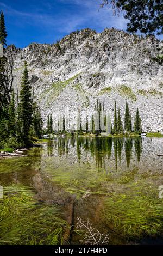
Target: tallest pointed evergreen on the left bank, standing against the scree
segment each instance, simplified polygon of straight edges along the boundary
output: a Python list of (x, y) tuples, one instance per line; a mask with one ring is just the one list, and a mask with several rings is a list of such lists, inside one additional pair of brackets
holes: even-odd
[(21, 125), (22, 139), (28, 142), (28, 133), (32, 124), (32, 86), (29, 82), (27, 62), (24, 62), (24, 72), (21, 82), (20, 103), (18, 106), (18, 118)]

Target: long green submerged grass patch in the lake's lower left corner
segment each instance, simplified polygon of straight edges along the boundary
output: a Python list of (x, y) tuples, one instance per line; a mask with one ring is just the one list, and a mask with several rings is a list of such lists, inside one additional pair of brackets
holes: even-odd
[(40, 204), (29, 187), (7, 187), (0, 199), (0, 245), (61, 245), (68, 223), (58, 205)]

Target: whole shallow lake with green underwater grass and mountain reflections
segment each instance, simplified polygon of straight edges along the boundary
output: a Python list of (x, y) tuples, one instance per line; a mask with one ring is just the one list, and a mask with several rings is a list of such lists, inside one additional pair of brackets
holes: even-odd
[(162, 244), (162, 142), (56, 137), (1, 159), (0, 245), (97, 244), (90, 227), (99, 245)]

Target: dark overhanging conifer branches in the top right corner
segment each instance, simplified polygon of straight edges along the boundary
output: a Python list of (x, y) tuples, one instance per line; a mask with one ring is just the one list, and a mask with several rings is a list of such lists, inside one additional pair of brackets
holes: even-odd
[(111, 4), (116, 10), (123, 11), (123, 16), (129, 22), (127, 31), (158, 35), (163, 33), (163, 4), (162, 0), (103, 0), (104, 4)]

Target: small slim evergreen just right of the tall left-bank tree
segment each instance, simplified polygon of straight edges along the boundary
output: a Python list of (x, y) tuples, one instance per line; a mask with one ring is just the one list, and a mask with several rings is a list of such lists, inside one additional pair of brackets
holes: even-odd
[(42, 125), (43, 125), (43, 121), (42, 121), (42, 117), (41, 117), (40, 108), (37, 107), (36, 104), (34, 104), (34, 106), (33, 106), (33, 127), (34, 127), (35, 135), (38, 138), (40, 138), (41, 134), (42, 134)]

